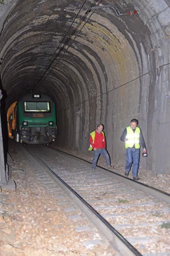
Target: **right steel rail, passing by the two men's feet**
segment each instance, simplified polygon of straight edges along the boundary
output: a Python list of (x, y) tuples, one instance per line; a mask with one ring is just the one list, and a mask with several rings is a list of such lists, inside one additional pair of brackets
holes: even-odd
[[(85, 160), (83, 158), (76, 157), (75, 155), (72, 155), (70, 153), (64, 152), (64, 151), (59, 150), (59, 149), (57, 149), (55, 147), (52, 147), (52, 146), (49, 146), (49, 147), (53, 148), (54, 150), (58, 150), (58, 151), (60, 151), (60, 152), (62, 152), (64, 154), (71, 155), (72, 157), (78, 158), (80, 161), (83, 161), (83, 162), (91, 164), (90, 161), (87, 161), (87, 160)], [(141, 190), (141, 191), (143, 191), (145, 193), (149, 193), (150, 195), (152, 195), (154, 197), (157, 197), (159, 199), (164, 200), (167, 203), (170, 203), (170, 194), (169, 193), (166, 193), (164, 191), (161, 191), (161, 190), (159, 190), (157, 188), (154, 188), (154, 187), (151, 187), (149, 185), (143, 184), (140, 181), (134, 181), (131, 178), (125, 177), (125, 176), (123, 176), (123, 175), (121, 175), (119, 173), (116, 173), (114, 171), (108, 170), (108, 169), (106, 169), (106, 168), (104, 168), (102, 166), (99, 166), (99, 165), (97, 165), (96, 169), (98, 171), (104, 173), (104, 174), (106, 174), (106, 172), (107, 172), (108, 176), (110, 176), (112, 178), (114, 177), (114, 178), (116, 178), (117, 180), (119, 180), (121, 182), (124, 182), (124, 183), (126, 183), (128, 185), (131, 185), (134, 188), (137, 188), (137, 189), (139, 189), (139, 190)]]

